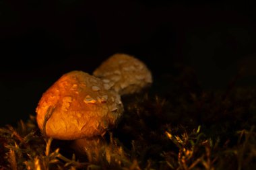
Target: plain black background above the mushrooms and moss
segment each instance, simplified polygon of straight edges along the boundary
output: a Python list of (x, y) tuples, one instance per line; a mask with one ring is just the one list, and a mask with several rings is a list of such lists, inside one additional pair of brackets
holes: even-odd
[(182, 63), (205, 89), (226, 87), (241, 67), (240, 85), (254, 85), (255, 16), (234, 1), (0, 1), (1, 126), (35, 115), (64, 73), (92, 73), (116, 52), (146, 62), (155, 80)]

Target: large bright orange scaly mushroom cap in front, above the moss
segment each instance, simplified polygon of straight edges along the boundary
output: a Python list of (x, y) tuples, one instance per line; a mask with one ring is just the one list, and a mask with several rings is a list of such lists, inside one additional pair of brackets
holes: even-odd
[(73, 140), (104, 134), (117, 124), (122, 113), (118, 93), (104, 89), (104, 83), (93, 75), (71, 71), (42, 94), (36, 120), (40, 130), (45, 126), (46, 136)]

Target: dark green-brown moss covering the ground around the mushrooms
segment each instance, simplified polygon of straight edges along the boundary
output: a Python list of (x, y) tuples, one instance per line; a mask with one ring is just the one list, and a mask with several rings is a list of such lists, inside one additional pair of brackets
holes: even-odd
[[(175, 73), (175, 72), (174, 72)], [(46, 139), (34, 116), (0, 128), (1, 169), (256, 169), (256, 90), (201, 89), (193, 69), (123, 96), (118, 126), (75, 153)]]

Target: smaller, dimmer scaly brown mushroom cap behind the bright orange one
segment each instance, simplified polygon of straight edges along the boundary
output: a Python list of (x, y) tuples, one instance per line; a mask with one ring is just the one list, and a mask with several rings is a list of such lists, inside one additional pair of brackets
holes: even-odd
[(152, 74), (139, 59), (129, 54), (110, 56), (93, 72), (105, 83), (106, 89), (114, 89), (120, 95), (141, 91), (152, 83)]

